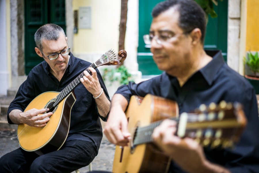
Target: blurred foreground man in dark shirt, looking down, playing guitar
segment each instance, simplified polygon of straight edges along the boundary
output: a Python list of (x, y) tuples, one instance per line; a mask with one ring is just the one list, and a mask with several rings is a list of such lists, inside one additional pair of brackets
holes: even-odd
[(202, 148), (191, 138), (181, 139), (175, 135), (176, 122), (172, 120), (165, 120), (152, 136), (157, 146), (172, 157), (169, 172), (258, 172), (255, 91), (224, 63), (221, 51), (203, 50), (206, 19), (201, 7), (193, 0), (168, 0), (156, 5), (152, 16), (144, 40), (151, 44), (153, 59), (164, 73), (117, 90), (104, 129), (108, 140), (121, 146), (128, 146), (132, 140), (124, 113), (132, 95), (152, 94), (174, 100), (179, 113), (190, 112), (201, 104), (237, 101), (243, 105), (247, 127), (233, 150)]

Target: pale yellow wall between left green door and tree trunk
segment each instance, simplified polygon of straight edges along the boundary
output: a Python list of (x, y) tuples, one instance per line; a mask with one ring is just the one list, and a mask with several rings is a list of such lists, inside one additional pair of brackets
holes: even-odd
[[(117, 51), (119, 41), (120, 0), (73, 0), (73, 10), (91, 7), (91, 29), (78, 29), (73, 51), (79, 54)], [(78, 21), (79, 25), (79, 21)], [(74, 26), (74, 24), (73, 24)]]

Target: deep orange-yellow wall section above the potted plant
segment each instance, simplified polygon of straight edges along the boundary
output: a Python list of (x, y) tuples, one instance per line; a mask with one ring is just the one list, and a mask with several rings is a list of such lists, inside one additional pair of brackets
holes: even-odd
[(258, 0), (247, 0), (246, 51), (259, 51)]

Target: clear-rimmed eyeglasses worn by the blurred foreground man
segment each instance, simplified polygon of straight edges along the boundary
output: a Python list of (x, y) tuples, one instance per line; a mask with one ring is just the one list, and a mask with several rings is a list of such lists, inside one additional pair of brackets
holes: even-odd
[(180, 33), (180, 34), (173, 34), (168, 31), (162, 31), (161, 33), (159, 33), (159, 35), (154, 35), (154, 34), (143, 35), (143, 40), (144, 40), (145, 44), (151, 45), (153, 38), (155, 38), (155, 40), (158, 44), (163, 44), (165, 42), (168, 42), (173, 37), (176, 37), (176, 36), (182, 35), (182, 34), (187, 34), (187, 33), (190, 33), (191, 31), (193, 31), (193, 29), (190, 31), (187, 31), (187, 32)]

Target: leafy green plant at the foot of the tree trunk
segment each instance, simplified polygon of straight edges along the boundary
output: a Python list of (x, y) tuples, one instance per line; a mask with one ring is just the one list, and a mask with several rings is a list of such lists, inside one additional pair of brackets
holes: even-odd
[[(119, 73), (120, 75), (115, 75)], [(110, 82), (119, 81), (121, 85), (128, 84), (130, 81), (133, 81), (132, 74), (130, 74), (127, 68), (124, 65), (119, 66), (116, 69), (104, 69), (104, 74), (102, 75), (103, 80), (109, 80)]]

